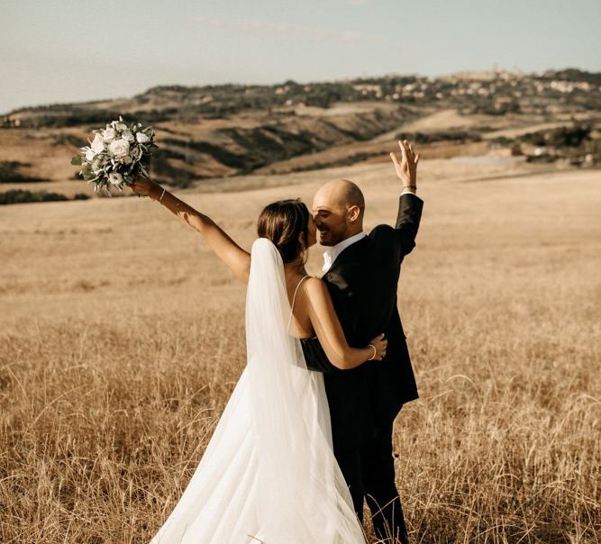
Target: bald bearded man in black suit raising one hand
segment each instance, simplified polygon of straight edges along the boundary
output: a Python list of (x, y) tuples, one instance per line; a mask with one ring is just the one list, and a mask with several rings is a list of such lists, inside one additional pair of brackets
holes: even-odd
[(362, 347), (378, 333), (388, 340), (382, 361), (338, 370), (318, 340), (302, 340), (307, 367), (324, 373), (332, 419), (334, 454), (350, 487), (355, 512), (363, 519), (368, 502), (379, 539), (407, 542), (395, 485), (393, 422), (417, 387), (397, 309), (396, 289), (403, 258), (415, 246), (423, 201), (415, 195), (419, 155), (399, 141), (402, 161), (391, 158), (403, 182), (395, 227), (363, 231), (365, 201), (360, 188), (341, 179), (314, 196), (313, 213), (323, 254), (325, 282), (347, 341)]

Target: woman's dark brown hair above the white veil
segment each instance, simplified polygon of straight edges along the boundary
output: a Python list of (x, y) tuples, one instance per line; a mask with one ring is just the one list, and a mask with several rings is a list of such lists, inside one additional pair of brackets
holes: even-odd
[[(271, 240), (284, 263), (290, 263), (307, 249), (309, 216), (309, 210), (300, 198), (278, 200), (263, 208), (257, 223), (257, 233), (260, 238)], [(306, 257), (303, 258), (305, 260)]]

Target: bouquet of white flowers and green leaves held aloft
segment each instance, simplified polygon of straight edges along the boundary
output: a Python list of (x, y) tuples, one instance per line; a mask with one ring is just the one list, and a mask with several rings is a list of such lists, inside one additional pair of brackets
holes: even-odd
[(123, 185), (148, 177), (150, 150), (157, 147), (152, 127), (142, 127), (140, 122), (128, 125), (119, 116), (119, 121), (110, 122), (105, 129), (93, 133), (94, 140), (79, 149), (71, 164), (81, 166), (79, 174), (87, 183), (96, 184), (95, 191), (102, 189), (106, 195), (113, 196), (110, 187), (123, 192)]

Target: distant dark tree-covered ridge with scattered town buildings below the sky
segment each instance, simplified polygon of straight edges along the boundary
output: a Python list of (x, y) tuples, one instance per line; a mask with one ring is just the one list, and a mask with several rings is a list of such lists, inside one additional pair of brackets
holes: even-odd
[(156, 86), (128, 99), (50, 104), (14, 110), (0, 118), (8, 127), (41, 128), (105, 122), (128, 113), (144, 122), (196, 122), (244, 111), (321, 107), (344, 102), (385, 102), (452, 107), (461, 114), (556, 114), (601, 110), (601, 73), (578, 69), (524, 74), (468, 72), (446, 77), (385, 76), (274, 86)]

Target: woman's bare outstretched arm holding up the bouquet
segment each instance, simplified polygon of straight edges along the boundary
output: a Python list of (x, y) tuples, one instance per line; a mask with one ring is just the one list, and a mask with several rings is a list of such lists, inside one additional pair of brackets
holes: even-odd
[(250, 253), (241, 249), (228, 234), (223, 231), (210, 217), (196, 211), (192, 206), (179, 200), (158, 183), (150, 179), (137, 179), (130, 186), (137, 195), (148, 195), (152, 200), (159, 200), (169, 212), (175, 213), (179, 219), (187, 222), (193, 229), (200, 232), (214, 250), (217, 257), (230, 268), (236, 277), (248, 283), (250, 273)]

